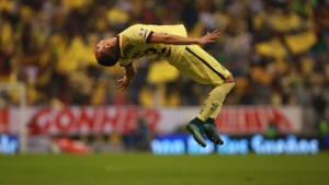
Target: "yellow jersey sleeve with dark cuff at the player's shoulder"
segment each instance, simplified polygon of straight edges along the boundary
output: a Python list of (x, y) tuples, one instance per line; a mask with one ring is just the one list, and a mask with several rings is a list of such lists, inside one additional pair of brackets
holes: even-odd
[(154, 31), (150, 31), (143, 24), (135, 24), (120, 35), (122, 35), (123, 42), (127, 44), (148, 44)]

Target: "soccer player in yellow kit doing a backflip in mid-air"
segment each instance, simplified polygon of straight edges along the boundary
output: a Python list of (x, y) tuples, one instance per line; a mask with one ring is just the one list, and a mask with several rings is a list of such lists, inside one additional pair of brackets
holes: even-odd
[[(198, 45), (214, 43), (219, 32), (207, 33), (203, 37), (188, 37), (183, 25), (133, 25), (117, 36), (102, 39), (94, 53), (99, 65), (111, 67), (116, 62), (124, 67), (125, 76), (117, 80), (117, 88), (126, 91), (136, 74), (133, 60), (143, 56), (158, 55), (189, 78), (214, 86), (205, 100), (200, 114), (186, 128), (194, 140), (206, 147), (204, 134), (216, 143), (223, 144), (217, 132), (215, 118), (226, 94), (234, 88), (232, 74)], [(159, 71), (166, 72), (166, 71)]]

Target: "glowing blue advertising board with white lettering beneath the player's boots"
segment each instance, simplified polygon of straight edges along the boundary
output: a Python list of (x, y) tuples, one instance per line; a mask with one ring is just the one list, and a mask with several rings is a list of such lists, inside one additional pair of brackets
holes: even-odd
[(295, 135), (266, 138), (263, 135), (246, 137), (222, 136), (223, 146), (206, 140), (206, 147), (200, 147), (190, 135), (163, 135), (151, 141), (154, 154), (317, 154), (328, 149), (324, 138), (305, 138)]

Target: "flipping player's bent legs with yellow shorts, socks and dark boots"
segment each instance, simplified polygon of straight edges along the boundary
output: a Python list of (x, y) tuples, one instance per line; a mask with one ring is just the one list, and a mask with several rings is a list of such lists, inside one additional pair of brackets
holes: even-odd
[[(234, 82), (230, 72), (196, 45), (189, 46), (181, 60), (173, 66), (197, 82), (216, 86), (205, 101), (201, 113), (186, 127), (201, 146), (205, 147), (206, 144), (203, 138), (204, 134), (211, 140), (214, 138), (212, 141), (219, 143), (220, 138), (214, 124), (207, 126), (208, 129), (205, 129), (204, 126), (208, 118), (218, 114), (226, 94), (234, 86), (234, 83), (223, 84), (224, 82)], [(212, 123), (211, 120), (208, 123)]]

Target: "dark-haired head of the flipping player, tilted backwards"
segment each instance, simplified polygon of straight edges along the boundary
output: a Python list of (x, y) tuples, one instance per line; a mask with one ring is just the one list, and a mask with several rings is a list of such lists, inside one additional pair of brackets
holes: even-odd
[(120, 58), (120, 48), (116, 43), (116, 37), (102, 39), (94, 48), (94, 55), (102, 66), (114, 66)]

